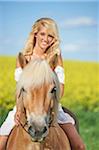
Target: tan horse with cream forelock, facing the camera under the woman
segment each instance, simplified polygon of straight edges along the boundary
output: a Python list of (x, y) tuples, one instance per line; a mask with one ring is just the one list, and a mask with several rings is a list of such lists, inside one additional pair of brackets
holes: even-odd
[(57, 123), (59, 82), (45, 60), (33, 59), (23, 69), (16, 93), (20, 125), (11, 131), (6, 150), (70, 150)]

